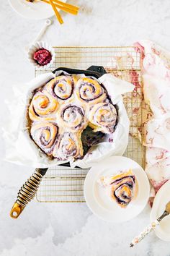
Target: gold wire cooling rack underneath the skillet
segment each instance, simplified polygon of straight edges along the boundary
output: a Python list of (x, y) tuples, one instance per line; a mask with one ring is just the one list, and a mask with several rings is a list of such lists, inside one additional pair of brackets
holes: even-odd
[[(140, 52), (133, 46), (124, 47), (54, 47), (55, 62), (48, 69), (35, 69), (35, 76), (51, 72), (57, 67), (87, 69), (103, 66), (107, 72), (132, 82), (135, 92), (123, 95), (130, 119), (130, 136), (125, 156), (145, 165), (145, 148), (142, 141), (142, 82)], [(84, 179), (89, 169), (56, 166), (49, 168), (37, 192), (39, 202), (84, 202)]]

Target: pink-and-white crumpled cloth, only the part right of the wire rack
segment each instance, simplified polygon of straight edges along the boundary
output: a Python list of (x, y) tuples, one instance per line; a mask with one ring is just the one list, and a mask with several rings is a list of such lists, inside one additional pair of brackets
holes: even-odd
[(142, 52), (146, 173), (158, 189), (170, 179), (170, 53), (150, 40), (135, 43)]

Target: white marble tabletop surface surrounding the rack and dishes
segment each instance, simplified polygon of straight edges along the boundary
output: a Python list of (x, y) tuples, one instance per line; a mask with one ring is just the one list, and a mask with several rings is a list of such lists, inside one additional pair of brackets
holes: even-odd
[[(55, 46), (118, 46), (148, 38), (170, 50), (169, 0), (74, 2), (81, 6), (79, 16), (64, 14), (62, 26), (54, 20), (43, 40)], [(24, 83), (34, 76), (24, 46), (35, 37), (43, 21), (24, 20), (6, 0), (1, 0), (0, 24), (0, 120), (3, 124), (7, 115), (4, 98), (11, 93), (11, 85)], [(1, 158), (4, 158), (3, 143)], [(30, 174), (32, 169), (29, 166), (23, 168), (1, 161), (0, 255), (170, 255), (169, 243), (162, 242), (155, 234), (135, 248), (128, 248), (130, 239), (149, 222), (149, 207), (132, 221), (110, 224), (94, 216), (85, 203), (31, 202), (22, 216), (13, 220), (9, 217), (9, 210), (17, 190)]]

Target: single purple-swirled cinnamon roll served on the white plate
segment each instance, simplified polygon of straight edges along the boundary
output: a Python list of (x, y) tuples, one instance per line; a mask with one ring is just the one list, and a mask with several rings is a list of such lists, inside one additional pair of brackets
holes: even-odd
[(102, 177), (100, 182), (104, 187), (109, 187), (110, 197), (121, 208), (126, 208), (137, 194), (137, 181), (131, 170), (121, 172), (116, 176)]

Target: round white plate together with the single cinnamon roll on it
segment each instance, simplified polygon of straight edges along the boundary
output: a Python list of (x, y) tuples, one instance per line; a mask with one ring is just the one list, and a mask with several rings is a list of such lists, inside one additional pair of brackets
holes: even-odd
[(84, 182), (91, 211), (104, 221), (123, 222), (145, 208), (150, 184), (143, 168), (130, 158), (111, 156), (93, 166)]

